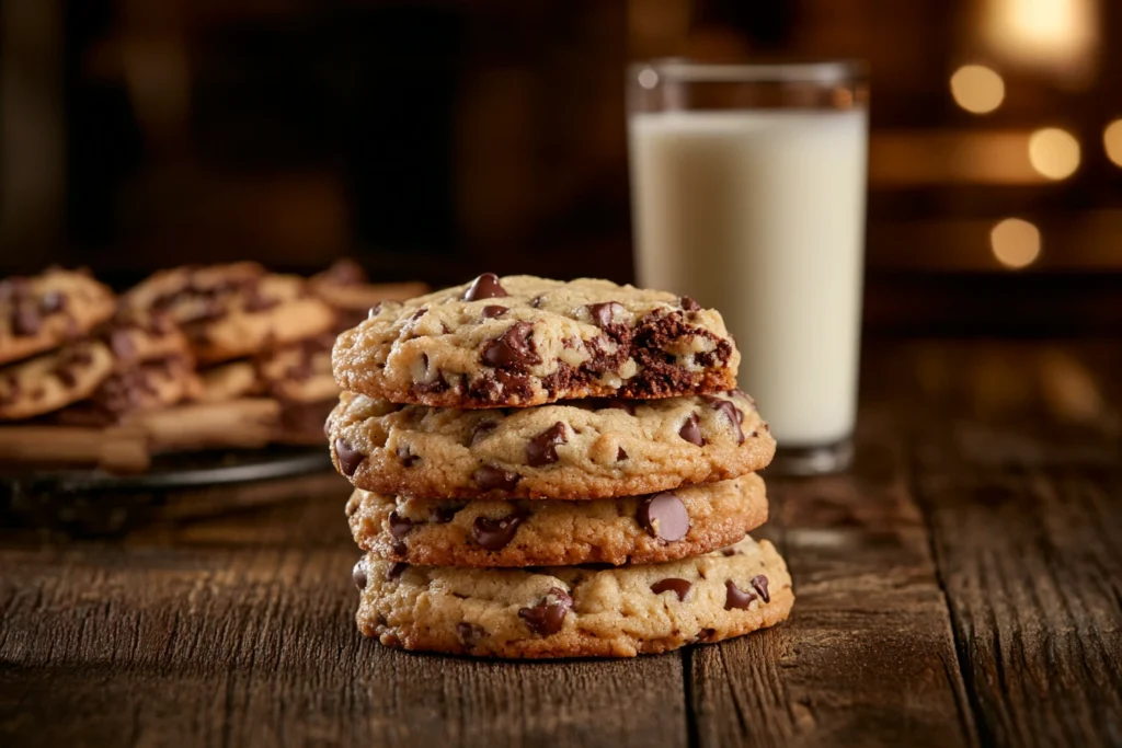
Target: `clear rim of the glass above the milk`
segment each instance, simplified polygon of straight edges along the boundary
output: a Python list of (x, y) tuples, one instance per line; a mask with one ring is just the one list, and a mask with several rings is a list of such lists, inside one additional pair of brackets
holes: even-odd
[(774, 61), (758, 63), (699, 63), (687, 57), (659, 57), (627, 66), (637, 80), (653, 71), (671, 83), (818, 83), (833, 85), (862, 81), (868, 64), (861, 59)]

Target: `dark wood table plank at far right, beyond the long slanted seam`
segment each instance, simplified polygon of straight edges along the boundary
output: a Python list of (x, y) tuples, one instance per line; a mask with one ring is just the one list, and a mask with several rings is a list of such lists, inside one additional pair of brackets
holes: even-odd
[(917, 493), (987, 744), (1122, 745), (1113, 350), (971, 347), (946, 401), (955, 426), (914, 434)]

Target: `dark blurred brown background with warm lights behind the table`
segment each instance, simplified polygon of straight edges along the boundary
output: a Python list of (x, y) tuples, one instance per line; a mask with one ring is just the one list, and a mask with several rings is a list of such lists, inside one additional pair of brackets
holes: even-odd
[[(188, 261), (313, 271), (353, 255), (386, 280), (629, 280), (624, 67), (779, 52), (872, 65), (872, 331), (1122, 331), (1113, 0), (4, 0), (0, 13), (2, 274), (57, 261), (125, 285)], [(996, 109), (956, 101), (964, 65), (1001, 76)], [(1077, 156), (1045, 137), (1033, 160), (1046, 128)], [(1038, 232), (1026, 267), (995, 252), (1010, 218)]]

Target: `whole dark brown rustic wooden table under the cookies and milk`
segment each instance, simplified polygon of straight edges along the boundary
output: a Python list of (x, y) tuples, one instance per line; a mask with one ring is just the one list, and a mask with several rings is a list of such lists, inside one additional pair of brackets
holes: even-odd
[(320, 477), (117, 543), (7, 533), (0, 745), (1122, 745), (1122, 345), (865, 359), (854, 469), (770, 480), (798, 593), (774, 630), (617, 662), (385, 649)]

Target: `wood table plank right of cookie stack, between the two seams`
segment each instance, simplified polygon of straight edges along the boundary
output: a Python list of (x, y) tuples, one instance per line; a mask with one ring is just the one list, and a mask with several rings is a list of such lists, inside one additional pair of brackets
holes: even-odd
[(849, 475), (769, 481), (790, 621), (697, 649), (700, 746), (974, 745), (946, 603), (890, 414)]

